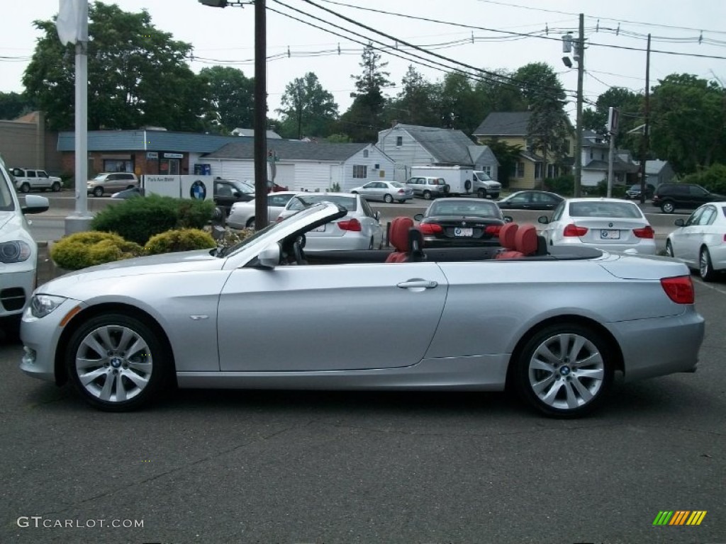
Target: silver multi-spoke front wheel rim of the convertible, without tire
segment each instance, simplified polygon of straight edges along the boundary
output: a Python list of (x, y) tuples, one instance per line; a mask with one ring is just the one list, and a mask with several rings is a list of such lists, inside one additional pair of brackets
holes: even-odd
[(122, 403), (149, 384), (153, 360), (147, 342), (119, 325), (101, 326), (86, 334), (76, 350), (76, 374), (90, 395)]

